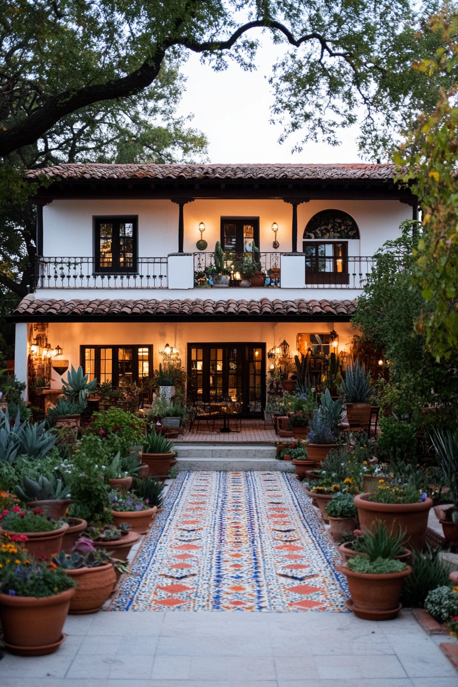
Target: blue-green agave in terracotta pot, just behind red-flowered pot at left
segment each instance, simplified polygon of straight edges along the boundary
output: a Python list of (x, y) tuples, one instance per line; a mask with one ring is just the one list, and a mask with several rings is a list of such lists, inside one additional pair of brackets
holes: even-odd
[(47, 480), (40, 475), (36, 482), (24, 475), (22, 485), (16, 484), (14, 491), (21, 501), (27, 503), (27, 508), (41, 508), (44, 515), (51, 515), (55, 519), (65, 517), (71, 499), (68, 498), (68, 488), (62, 486), (62, 480)]

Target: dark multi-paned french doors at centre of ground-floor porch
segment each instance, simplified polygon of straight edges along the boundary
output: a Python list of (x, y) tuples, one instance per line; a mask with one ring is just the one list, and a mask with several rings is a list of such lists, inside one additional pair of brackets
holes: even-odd
[(244, 417), (265, 405), (265, 343), (188, 343), (187, 374), (194, 401), (238, 401)]

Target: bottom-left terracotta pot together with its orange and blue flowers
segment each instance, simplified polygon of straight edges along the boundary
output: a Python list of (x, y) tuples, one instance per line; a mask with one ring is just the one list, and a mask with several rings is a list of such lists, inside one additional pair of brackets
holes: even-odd
[(12, 653), (43, 656), (65, 640), (62, 634), (75, 583), (62, 570), (34, 563), (8, 534), (0, 533), (1, 640)]

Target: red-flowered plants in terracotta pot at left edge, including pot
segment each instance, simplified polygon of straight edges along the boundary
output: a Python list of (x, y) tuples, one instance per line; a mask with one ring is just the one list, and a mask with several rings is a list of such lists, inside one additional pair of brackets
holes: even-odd
[(27, 550), (34, 558), (50, 559), (62, 548), (62, 537), (68, 524), (62, 520), (44, 517), (41, 508), (23, 510), (14, 506), (0, 515), (0, 526), (11, 537), (27, 537)]

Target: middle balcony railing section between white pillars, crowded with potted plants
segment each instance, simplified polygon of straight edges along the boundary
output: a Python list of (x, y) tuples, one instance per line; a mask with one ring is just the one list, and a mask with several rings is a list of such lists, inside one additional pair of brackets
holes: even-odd
[[(244, 278), (242, 268), (244, 258), (248, 263), (251, 262), (249, 254), (225, 254), (223, 273), (229, 279), (229, 286), (240, 286)], [(280, 286), (280, 254), (260, 253), (257, 260), (261, 264), (264, 284), (261, 283), (262, 280), (257, 280), (256, 285), (271, 288)], [(194, 286), (216, 285), (214, 262), (214, 253), (194, 253)], [(248, 276), (246, 278), (249, 280)]]

